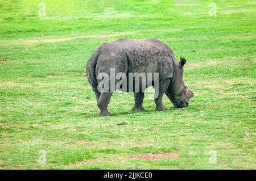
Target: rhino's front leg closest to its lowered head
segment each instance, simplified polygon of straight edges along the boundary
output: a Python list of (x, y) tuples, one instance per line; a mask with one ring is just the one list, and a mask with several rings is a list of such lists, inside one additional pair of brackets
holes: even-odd
[(164, 92), (166, 92), (166, 90), (168, 89), (169, 84), (170, 84), (170, 79), (165, 79), (164, 81), (159, 82), (159, 90), (156, 90), (156, 87), (155, 87), (155, 91), (158, 91), (158, 98), (155, 99), (155, 104), (156, 104), (155, 111), (167, 110), (167, 108), (163, 106), (162, 99), (163, 99)]

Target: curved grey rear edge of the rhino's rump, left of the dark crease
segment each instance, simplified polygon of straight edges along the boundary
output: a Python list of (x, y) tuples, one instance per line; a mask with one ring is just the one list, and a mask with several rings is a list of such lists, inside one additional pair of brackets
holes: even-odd
[(96, 69), (99, 55), (100, 55), (100, 53), (98, 52), (98, 50), (96, 50), (96, 52), (94, 52), (90, 56), (89, 60), (87, 61), (87, 65), (86, 65), (86, 77), (94, 91), (97, 91), (97, 86), (98, 86), (95, 69)]

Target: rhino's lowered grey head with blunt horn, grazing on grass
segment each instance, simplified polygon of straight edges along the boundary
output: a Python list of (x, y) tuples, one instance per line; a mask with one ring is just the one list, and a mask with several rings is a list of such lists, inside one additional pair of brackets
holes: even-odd
[(172, 104), (176, 107), (187, 107), (188, 100), (192, 98), (193, 92), (188, 89), (183, 81), (185, 58), (180, 58), (180, 62), (174, 61), (174, 79), (165, 92)]

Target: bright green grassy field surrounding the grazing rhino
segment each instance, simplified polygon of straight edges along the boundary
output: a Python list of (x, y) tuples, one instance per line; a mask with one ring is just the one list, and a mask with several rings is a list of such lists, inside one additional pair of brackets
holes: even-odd
[[(256, 169), (255, 1), (42, 1), (0, 1), (0, 169)], [(86, 61), (121, 37), (187, 58), (189, 107), (99, 116)]]

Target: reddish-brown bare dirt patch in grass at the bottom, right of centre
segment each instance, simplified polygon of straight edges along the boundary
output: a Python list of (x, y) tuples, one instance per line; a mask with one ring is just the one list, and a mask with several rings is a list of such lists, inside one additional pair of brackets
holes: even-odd
[(172, 153), (148, 153), (142, 154), (136, 157), (137, 159), (148, 159), (148, 160), (155, 160), (155, 159), (177, 159), (179, 158), (179, 153), (172, 152)]

